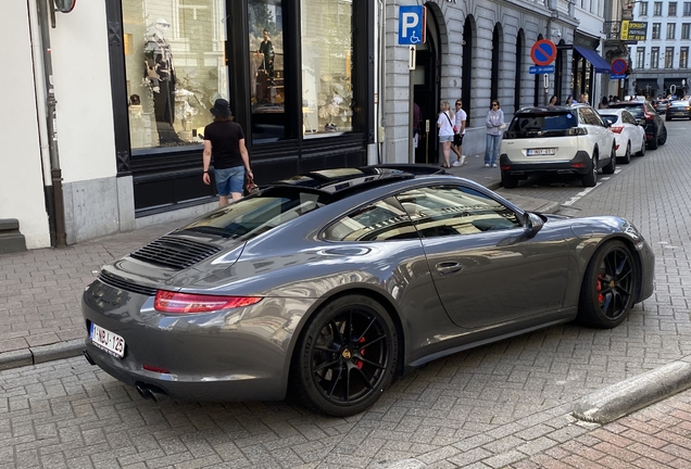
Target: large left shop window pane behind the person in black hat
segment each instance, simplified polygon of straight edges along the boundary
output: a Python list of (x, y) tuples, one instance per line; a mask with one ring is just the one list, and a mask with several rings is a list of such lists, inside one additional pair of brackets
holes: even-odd
[(201, 145), (227, 98), (224, 0), (123, 0), (133, 149)]

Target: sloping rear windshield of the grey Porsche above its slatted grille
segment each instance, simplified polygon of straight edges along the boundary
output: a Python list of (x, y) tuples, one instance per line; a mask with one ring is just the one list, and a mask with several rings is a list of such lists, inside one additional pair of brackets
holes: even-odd
[(317, 191), (275, 187), (213, 211), (181, 230), (248, 240), (329, 202)]

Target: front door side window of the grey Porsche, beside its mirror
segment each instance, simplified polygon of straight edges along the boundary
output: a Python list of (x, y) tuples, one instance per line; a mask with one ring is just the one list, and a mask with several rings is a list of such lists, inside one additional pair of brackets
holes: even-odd
[(517, 215), (494, 199), (463, 186), (434, 186), (397, 195), (424, 238), (477, 234), (520, 227)]

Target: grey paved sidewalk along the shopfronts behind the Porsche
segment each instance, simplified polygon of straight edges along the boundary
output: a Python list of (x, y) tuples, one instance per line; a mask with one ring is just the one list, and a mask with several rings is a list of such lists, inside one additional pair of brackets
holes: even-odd
[[(464, 166), (448, 172), (490, 189), (500, 187), (499, 169), (486, 168), (481, 156), (468, 156)], [(551, 201), (513, 193), (506, 198), (525, 210), (558, 210)], [(99, 268), (180, 225), (174, 221), (65, 249), (1, 255), (0, 369), (79, 355), (86, 337), (81, 292)]]

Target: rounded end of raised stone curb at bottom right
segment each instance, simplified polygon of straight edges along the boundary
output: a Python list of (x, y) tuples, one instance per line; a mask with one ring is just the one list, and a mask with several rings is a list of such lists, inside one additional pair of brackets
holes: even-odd
[(608, 423), (691, 388), (691, 364), (673, 362), (596, 391), (576, 404), (574, 417)]

